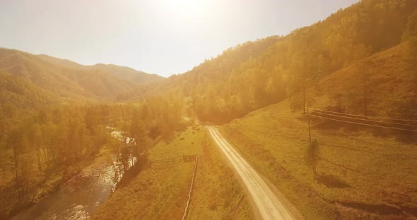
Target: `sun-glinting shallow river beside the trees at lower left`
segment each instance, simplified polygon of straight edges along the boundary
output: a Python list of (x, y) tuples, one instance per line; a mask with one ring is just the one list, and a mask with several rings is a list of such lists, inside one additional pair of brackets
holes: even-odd
[(123, 169), (115, 157), (112, 164), (104, 160), (92, 164), (83, 169), (81, 175), (12, 219), (88, 219), (113, 192), (122, 175)]

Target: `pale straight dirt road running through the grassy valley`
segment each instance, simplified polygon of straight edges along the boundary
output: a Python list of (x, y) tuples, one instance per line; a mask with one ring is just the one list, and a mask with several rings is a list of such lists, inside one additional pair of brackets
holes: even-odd
[(206, 126), (206, 128), (223, 154), (225, 154), (225, 157), (233, 165), (243, 183), (245, 183), (262, 219), (303, 219), (299, 214), (290, 212), (290, 208), (287, 207), (286, 203), (278, 200), (275, 193), (259, 176), (259, 173), (236, 152), (218, 132), (216, 127)]

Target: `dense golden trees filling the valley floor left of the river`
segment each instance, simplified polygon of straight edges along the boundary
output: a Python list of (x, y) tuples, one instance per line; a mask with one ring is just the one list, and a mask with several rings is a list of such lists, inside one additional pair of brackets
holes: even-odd
[[(0, 218), (56, 190), (103, 151), (127, 170), (130, 158), (182, 128), (180, 104), (153, 97), (140, 106), (56, 104), (39, 111), (6, 106), (0, 114)], [(110, 135), (112, 129), (122, 141)], [(127, 145), (127, 137), (134, 144)]]

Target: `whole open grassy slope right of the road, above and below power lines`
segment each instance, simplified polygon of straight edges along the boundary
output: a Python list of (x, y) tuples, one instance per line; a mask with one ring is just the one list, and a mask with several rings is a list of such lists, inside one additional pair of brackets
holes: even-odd
[[(307, 89), (307, 106), (391, 118), (415, 118), (416, 65), (410, 44), (374, 54)], [(365, 74), (365, 75), (364, 75)], [(221, 132), (311, 219), (382, 219), (417, 214), (415, 133), (312, 120), (319, 143), (317, 176), (307, 163), (303, 96), (253, 111)]]

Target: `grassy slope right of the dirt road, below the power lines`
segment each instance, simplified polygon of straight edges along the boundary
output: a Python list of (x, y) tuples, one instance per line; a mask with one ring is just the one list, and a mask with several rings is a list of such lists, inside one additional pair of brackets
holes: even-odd
[[(345, 128), (319, 129), (318, 176), (307, 165), (307, 123), (288, 103), (254, 111), (221, 132), (307, 219), (391, 218), (416, 212), (417, 147)], [(401, 216), (406, 219), (406, 216)]]

